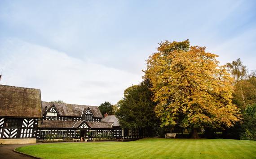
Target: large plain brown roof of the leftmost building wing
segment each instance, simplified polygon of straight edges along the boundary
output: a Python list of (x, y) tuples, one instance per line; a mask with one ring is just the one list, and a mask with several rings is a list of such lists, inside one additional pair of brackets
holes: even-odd
[(0, 116), (41, 117), (40, 89), (0, 84)]

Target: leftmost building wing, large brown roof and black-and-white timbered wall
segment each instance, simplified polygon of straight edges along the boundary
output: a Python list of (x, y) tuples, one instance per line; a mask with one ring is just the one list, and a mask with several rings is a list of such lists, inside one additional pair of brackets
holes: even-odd
[(35, 143), (40, 89), (0, 85), (0, 143)]

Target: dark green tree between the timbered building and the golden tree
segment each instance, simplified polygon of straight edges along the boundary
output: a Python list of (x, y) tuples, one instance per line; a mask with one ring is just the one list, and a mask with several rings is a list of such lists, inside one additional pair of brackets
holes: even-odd
[(119, 100), (116, 112), (121, 126), (128, 129), (145, 128), (150, 135), (158, 127), (154, 113), (155, 103), (150, 100), (151, 97), (152, 92), (146, 82), (125, 89), (124, 99)]

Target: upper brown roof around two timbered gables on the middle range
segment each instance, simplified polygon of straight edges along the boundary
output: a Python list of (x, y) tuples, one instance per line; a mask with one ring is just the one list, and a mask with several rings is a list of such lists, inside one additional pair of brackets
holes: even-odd
[(90, 108), (91, 112), (93, 113), (93, 117), (103, 117), (100, 109), (97, 106), (51, 103), (45, 101), (42, 101), (42, 113), (44, 113), (45, 106), (47, 106), (47, 109), (49, 109), (53, 104), (61, 116), (81, 117), (84, 110)]

